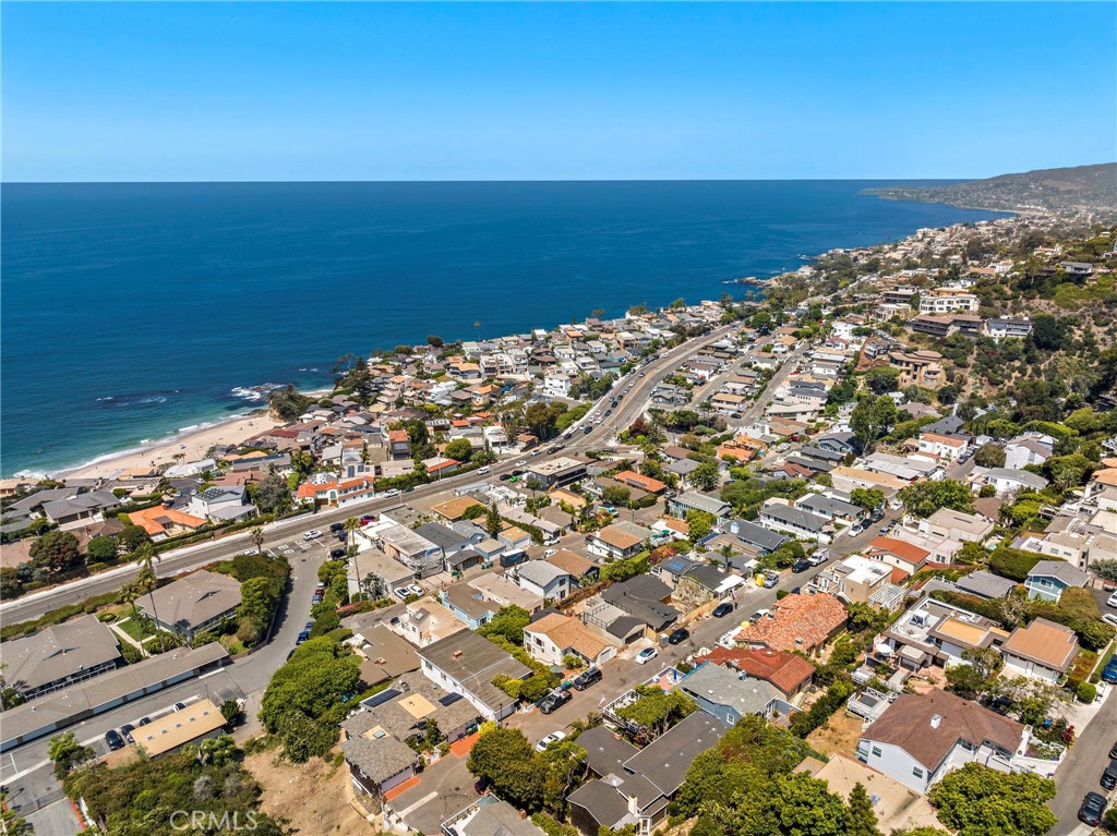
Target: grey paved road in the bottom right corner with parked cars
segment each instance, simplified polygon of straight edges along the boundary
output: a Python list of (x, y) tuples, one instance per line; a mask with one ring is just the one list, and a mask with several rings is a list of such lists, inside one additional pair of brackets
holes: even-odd
[(1078, 730), (1078, 741), (1070, 748), (1067, 759), (1054, 773), (1058, 788), (1056, 797), (1048, 805), (1059, 824), (1051, 829), (1051, 836), (1070, 836), (1089, 833), (1090, 828), (1078, 820), (1078, 807), (1087, 792), (1106, 792), (1098, 782), (1101, 770), (1109, 762), (1109, 747), (1117, 743), (1117, 688), (1110, 685), (1101, 710), (1086, 729)]

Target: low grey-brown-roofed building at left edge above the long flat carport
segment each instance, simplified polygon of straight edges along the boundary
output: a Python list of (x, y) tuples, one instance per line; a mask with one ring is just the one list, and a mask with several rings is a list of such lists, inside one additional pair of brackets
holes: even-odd
[(3, 643), (4, 682), (25, 701), (107, 673), (123, 661), (116, 635), (94, 615)]

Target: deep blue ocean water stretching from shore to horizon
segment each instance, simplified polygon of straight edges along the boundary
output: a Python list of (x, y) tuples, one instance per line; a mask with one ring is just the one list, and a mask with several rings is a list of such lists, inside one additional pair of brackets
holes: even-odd
[(327, 385), (346, 352), (739, 297), (720, 282), (997, 217), (859, 194), (886, 184), (4, 184), (0, 472)]

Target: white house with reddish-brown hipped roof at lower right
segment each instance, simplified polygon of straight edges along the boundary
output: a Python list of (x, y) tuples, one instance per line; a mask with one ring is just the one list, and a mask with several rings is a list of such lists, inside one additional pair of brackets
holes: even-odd
[(857, 744), (862, 763), (917, 792), (970, 762), (1015, 771), (1027, 750), (1027, 727), (961, 696), (935, 689), (900, 694)]

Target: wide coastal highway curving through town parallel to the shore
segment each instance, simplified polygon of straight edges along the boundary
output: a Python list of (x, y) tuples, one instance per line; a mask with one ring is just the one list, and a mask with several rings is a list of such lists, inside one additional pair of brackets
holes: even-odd
[[(584, 453), (586, 450), (600, 449), (615, 436), (618, 427), (631, 424), (639, 415), (643, 414), (651, 391), (656, 384), (679, 363), (697, 354), (701, 348), (716, 343), (726, 334), (733, 330), (733, 326), (723, 326), (714, 329), (706, 336), (688, 340), (676, 348), (662, 352), (661, 355), (650, 363), (642, 364), (628, 376), (618, 381), (609, 395), (594, 404), (590, 412), (574, 427), (573, 436), (565, 442), (562, 454), (570, 455)], [(785, 364), (786, 366), (786, 364)], [(604, 417), (601, 424), (592, 423), (598, 417), (603, 417), (610, 409), (609, 404), (613, 397), (619, 396), (624, 387), (631, 385), (632, 391), (623, 395), (612, 414)], [(589, 433), (584, 432), (584, 426), (589, 423), (592, 427)], [(552, 442), (554, 443), (554, 442)], [(489, 479), (499, 477), (503, 473), (510, 473), (517, 468), (516, 462), (527, 460), (536, 462), (542, 460), (541, 452), (535, 455), (522, 454), (510, 457), (498, 464), (494, 464)], [(332, 522), (344, 522), (350, 517), (360, 517), (363, 513), (373, 513), (391, 508), (400, 502), (411, 501), (430, 497), (436, 493), (452, 490), (465, 484), (483, 481), (476, 472), (467, 472), (447, 477), (429, 484), (417, 487), (412, 492), (395, 497), (378, 497), (363, 502), (352, 502), (344, 508), (327, 508), (317, 513), (307, 513), (300, 517), (293, 517), (279, 522), (265, 526), (264, 547), (269, 548), (280, 542), (300, 539), (305, 531), (311, 529), (327, 529)], [(323, 538), (324, 545), (332, 546), (333, 541)], [(212, 542), (197, 546), (188, 546), (182, 549), (166, 551), (161, 555), (155, 569), (160, 577), (178, 575), (182, 571), (195, 569), (214, 560), (222, 560), (240, 551), (252, 549), (248, 531), (238, 532), (217, 539)], [(315, 548), (315, 551), (317, 548)], [(16, 600), (0, 604), (0, 624), (15, 624), (19, 622), (38, 618), (51, 609), (57, 609), (69, 604), (79, 604), (83, 600), (96, 595), (120, 589), (125, 583), (135, 576), (135, 567), (118, 566), (107, 571), (99, 573), (88, 578), (80, 578), (68, 584), (63, 584), (49, 589), (41, 589), (30, 595), (17, 598)]]

